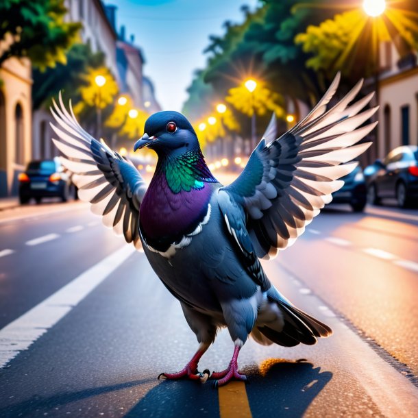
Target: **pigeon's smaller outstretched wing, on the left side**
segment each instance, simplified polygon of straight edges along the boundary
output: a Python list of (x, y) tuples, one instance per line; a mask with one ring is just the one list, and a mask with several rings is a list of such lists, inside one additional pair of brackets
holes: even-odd
[(139, 207), (147, 185), (132, 162), (90, 136), (75, 119), (71, 102), (69, 113), (60, 93), (60, 106), (53, 101), (51, 123), (57, 138), (53, 143), (62, 153), (62, 165), (73, 173), (79, 198), (89, 201), (91, 210), (102, 215), (104, 225), (123, 234), (127, 243), (141, 249)]

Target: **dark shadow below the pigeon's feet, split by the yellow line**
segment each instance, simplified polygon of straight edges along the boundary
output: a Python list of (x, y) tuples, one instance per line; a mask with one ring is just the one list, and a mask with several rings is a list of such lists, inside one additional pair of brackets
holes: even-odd
[[(249, 378), (247, 397), (254, 417), (299, 417), (331, 380), (330, 371), (321, 371), (305, 360), (271, 358), (241, 370)], [(210, 380), (196, 382), (165, 380), (154, 387), (130, 410), (127, 417), (219, 416), (217, 391)]]

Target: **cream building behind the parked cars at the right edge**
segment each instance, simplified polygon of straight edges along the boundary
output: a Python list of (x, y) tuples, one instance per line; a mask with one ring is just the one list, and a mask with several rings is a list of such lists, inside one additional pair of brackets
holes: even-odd
[(417, 51), (401, 57), (395, 45), (380, 45), (377, 158), (401, 145), (418, 145)]

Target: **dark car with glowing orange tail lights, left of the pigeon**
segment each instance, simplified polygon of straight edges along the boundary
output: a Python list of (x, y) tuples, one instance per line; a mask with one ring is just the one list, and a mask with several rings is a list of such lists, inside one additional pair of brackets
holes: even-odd
[(19, 200), (27, 204), (34, 197), (40, 203), (42, 197), (69, 197), (71, 181), (58, 158), (55, 160), (34, 160), (19, 174)]

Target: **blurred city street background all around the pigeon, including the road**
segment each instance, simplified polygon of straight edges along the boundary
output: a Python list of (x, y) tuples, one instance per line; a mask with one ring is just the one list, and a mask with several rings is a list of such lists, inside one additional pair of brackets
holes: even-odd
[[(51, 141), (59, 92), (146, 180), (156, 156), (133, 146), (147, 117), (183, 112), (225, 184), (272, 114), (280, 136), (339, 71), (330, 105), (359, 79), (360, 98), (375, 92), (373, 145), (263, 264), (335, 336), (295, 349), (249, 341), (246, 393), (259, 417), (416, 415), (417, 51), (417, 0), (0, 0), (0, 416), (219, 415), (208, 385), (156, 380), (184, 366), (194, 336), (145, 256), (77, 200)], [(222, 332), (202, 369), (224, 368), (231, 348)]]

